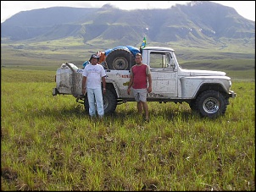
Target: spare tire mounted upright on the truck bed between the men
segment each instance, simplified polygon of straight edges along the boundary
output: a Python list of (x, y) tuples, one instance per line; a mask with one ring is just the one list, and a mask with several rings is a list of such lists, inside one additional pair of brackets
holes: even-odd
[(106, 63), (109, 69), (114, 70), (128, 70), (135, 65), (135, 58), (133, 54), (125, 49), (115, 49), (107, 55)]

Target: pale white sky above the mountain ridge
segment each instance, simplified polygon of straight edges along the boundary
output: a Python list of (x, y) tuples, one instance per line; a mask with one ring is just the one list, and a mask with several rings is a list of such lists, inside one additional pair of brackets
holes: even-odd
[[(144, 8), (170, 8), (175, 4), (186, 4), (191, 1), (1, 1), (1, 23), (20, 11), (37, 8), (75, 7), (101, 8), (110, 3), (124, 10)], [(237, 13), (246, 19), (255, 21), (255, 1), (211, 1), (235, 8)]]

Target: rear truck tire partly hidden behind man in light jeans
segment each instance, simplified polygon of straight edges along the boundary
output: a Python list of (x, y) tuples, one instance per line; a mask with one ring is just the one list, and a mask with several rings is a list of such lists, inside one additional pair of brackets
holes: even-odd
[[(112, 93), (108, 89), (106, 90), (106, 93), (103, 94), (103, 105), (104, 105), (104, 114), (113, 113), (117, 106), (117, 101), (114, 96), (114, 93)], [(84, 107), (85, 107), (86, 113), (89, 114), (89, 102), (88, 102), (87, 94), (84, 100)]]

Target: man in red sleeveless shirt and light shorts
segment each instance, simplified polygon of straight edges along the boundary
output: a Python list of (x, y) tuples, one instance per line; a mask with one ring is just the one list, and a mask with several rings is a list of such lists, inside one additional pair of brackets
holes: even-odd
[(131, 79), (128, 85), (127, 93), (130, 95), (132, 87), (133, 95), (137, 102), (138, 112), (142, 114), (142, 110), (144, 110), (145, 121), (149, 122), (147, 93), (152, 91), (151, 73), (148, 65), (142, 63), (142, 54), (140, 52), (136, 53), (135, 61), (136, 65), (132, 66), (131, 68)]

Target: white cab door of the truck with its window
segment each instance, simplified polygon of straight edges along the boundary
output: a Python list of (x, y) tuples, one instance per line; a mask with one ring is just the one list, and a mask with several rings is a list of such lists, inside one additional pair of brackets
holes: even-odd
[(170, 52), (150, 52), (149, 66), (153, 91), (147, 97), (175, 97), (177, 94), (177, 68)]

